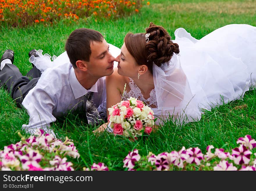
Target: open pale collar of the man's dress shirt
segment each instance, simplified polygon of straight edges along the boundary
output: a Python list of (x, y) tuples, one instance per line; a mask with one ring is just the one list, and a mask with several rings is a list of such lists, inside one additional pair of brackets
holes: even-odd
[(88, 90), (85, 89), (77, 80), (73, 67), (71, 67), (69, 70), (69, 81), (70, 81), (70, 86), (75, 99), (87, 94), (87, 92), (98, 92), (98, 88), (97, 88), (98, 81), (90, 89)]

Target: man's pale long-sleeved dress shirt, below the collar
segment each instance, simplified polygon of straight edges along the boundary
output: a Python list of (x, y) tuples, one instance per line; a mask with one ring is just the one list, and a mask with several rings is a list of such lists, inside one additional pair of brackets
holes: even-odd
[(99, 113), (106, 112), (105, 86), (105, 77), (102, 77), (90, 89), (83, 88), (70, 62), (46, 69), (22, 102), (29, 114), (29, 124), (23, 124), (22, 129), (31, 134), (38, 128), (53, 133), (47, 126), (50, 127), (56, 117), (85, 108), (84, 95), (89, 91), (95, 92), (93, 102)]

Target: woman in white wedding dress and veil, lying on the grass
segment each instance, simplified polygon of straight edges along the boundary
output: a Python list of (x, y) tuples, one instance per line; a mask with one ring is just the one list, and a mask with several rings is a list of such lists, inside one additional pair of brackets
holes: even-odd
[(204, 109), (241, 99), (255, 85), (255, 26), (230, 24), (200, 40), (178, 28), (171, 40), (150, 23), (145, 33), (128, 33), (124, 41), (118, 67), (106, 77), (107, 108), (131, 96), (152, 108), (156, 124), (193, 122)]

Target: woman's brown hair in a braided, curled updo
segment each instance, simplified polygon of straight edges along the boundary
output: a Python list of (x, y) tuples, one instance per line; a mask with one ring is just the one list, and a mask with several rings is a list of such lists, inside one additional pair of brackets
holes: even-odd
[(138, 65), (147, 65), (151, 73), (153, 62), (161, 66), (172, 58), (173, 53), (179, 53), (179, 45), (173, 43), (168, 32), (152, 22), (146, 28), (146, 33), (128, 33), (125, 36), (125, 46)]

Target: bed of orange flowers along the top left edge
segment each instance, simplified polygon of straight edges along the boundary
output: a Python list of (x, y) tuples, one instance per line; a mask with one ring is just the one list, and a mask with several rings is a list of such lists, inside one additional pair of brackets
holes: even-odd
[(0, 0), (0, 24), (25, 26), (59, 19), (120, 17), (136, 13), (144, 0)]

